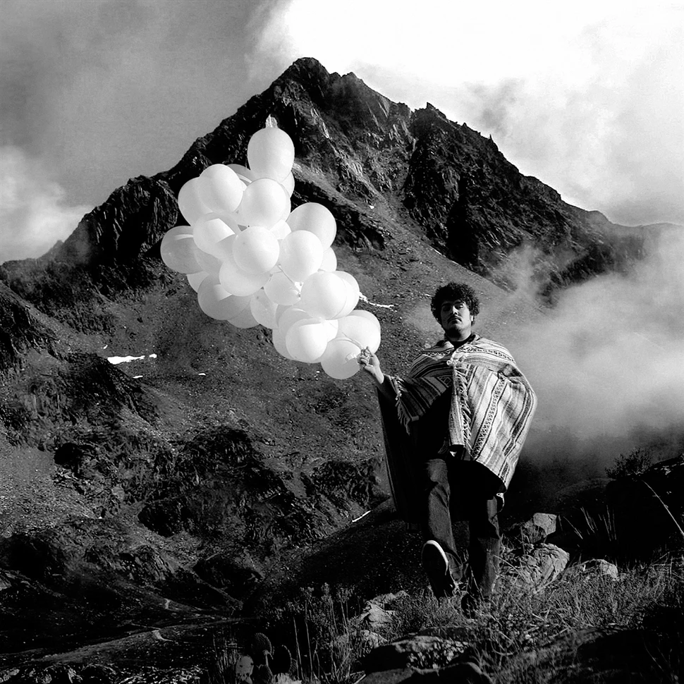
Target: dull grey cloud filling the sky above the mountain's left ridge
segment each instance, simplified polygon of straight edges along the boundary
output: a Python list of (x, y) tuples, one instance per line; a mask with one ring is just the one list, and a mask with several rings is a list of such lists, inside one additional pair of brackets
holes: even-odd
[(78, 204), (171, 168), (277, 75), (245, 78), (271, 5), (4, 1), (3, 144), (42, 159)]

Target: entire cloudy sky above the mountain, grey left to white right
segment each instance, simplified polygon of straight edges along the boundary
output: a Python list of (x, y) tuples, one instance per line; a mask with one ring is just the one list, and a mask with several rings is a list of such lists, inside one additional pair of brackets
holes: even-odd
[(0, 262), (169, 169), (300, 56), (491, 134), (567, 202), (684, 223), (681, 1), (0, 0), (0, 30)]

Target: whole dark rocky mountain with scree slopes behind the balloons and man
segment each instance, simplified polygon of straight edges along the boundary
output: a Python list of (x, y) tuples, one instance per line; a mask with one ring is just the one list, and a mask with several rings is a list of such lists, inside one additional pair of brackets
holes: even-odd
[(508, 295), (516, 248), (537, 248), (549, 301), (645, 249), (465, 123), (298, 60), (173, 169), (114, 190), (44, 257), (0, 267), (0, 662), (187, 658), (154, 630), (196, 645), (249, 623), (241, 602), (275, 563), (387, 499), (370, 384), (207, 318), (159, 258), (183, 183), (244, 163), (267, 116), (295, 143), (293, 206), (336, 217), (338, 263), (381, 322), (389, 372), (439, 334), (428, 303), (444, 281), (474, 286), (478, 329), (515, 351), (520, 324), (544, 316)]

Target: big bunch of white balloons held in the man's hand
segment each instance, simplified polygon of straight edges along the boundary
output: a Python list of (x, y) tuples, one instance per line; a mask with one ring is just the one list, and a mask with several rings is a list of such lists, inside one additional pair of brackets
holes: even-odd
[(335, 218), (317, 202), (291, 211), (295, 148), (281, 128), (257, 130), (247, 159), (249, 168), (213, 164), (183, 185), (188, 225), (164, 235), (161, 258), (187, 275), (207, 316), (266, 326), (279, 354), (351, 377), (360, 350), (380, 346), (380, 323), (355, 309), (358, 283), (336, 270)]

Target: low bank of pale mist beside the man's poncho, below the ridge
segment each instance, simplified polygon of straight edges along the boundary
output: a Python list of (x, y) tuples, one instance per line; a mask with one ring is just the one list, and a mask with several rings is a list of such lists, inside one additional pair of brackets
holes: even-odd
[[(654, 231), (630, 274), (568, 289), (525, 331), (515, 357), (539, 395), (537, 439), (561, 448), (570, 437), (591, 447), (681, 429), (682, 263), (684, 229)], [(529, 283), (520, 285), (529, 295)]]

